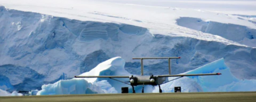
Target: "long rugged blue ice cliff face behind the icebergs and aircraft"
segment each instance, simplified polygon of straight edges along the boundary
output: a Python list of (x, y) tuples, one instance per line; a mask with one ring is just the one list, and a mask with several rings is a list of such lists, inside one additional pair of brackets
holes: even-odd
[[(154, 34), (150, 30), (125, 23), (79, 21), (1, 6), (0, 89), (42, 90), (44, 84), (72, 79), (116, 56), (121, 56), (125, 70), (135, 75), (140, 74), (140, 63), (132, 57), (182, 57), (172, 61), (172, 74), (223, 57), (235, 77), (256, 79), (254, 47), (189, 29), (168, 35)], [(175, 35), (183, 31), (205, 36)], [(168, 74), (167, 63), (165, 60), (145, 61), (145, 75)], [(154, 71), (156, 68), (158, 71)], [(112, 85), (111, 81), (109, 83)]]

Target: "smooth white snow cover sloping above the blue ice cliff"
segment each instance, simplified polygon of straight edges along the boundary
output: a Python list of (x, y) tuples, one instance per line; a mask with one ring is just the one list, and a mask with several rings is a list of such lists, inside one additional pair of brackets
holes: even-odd
[[(25, 2), (25, 3), (24, 3)], [(136, 3), (138, 1), (128, 1), (124, 0), (124, 2)], [(141, 0), (141, 2), (146, 2), (145, 0)], [(151, 1), (151, 4), (154, 4), (156, 0)], [(159, 2), (159, 1), (158, 1)], [(168, 2), (168, 1), (167, 1)], [(190, 1), (183, 1), (180, 3), (191, 3)], [(193, 2), (193, 1), (192, 1)], [(194, 1), (195, 3), (196, 1)], [(208, 2), (209, 4), (212, 1), (200, 1), (200, 2)], [(221, 5), (221, 3), (225, 3), (226, 5), (230, 5), (228, 1), (219, 1), (219, 5), (221, 7), (225, 7)], [(236, 1), (234, 2), (236, 5), (241, 5), (241, 2), (244, 1)], [(216, 40), (213, 36), (211, 38), (205, 37), (205, 34), (200, 35), (200, 37), (195, 36), (193, 34), (187, 33), (179, 33), (179, 26), (175, 24), (175, 19), (179, 17), (194, 17), (194, 18), (202, 18), (208, 19), (214, 22), (221, 23), (233, 23), (248, 26), (250, 28), (256, 29), (256, 25), (249, 21), (244, 21), (237, 19), (236, 16), (222, 14), (212, 12), (212, 11), (204, 11), (198, 9), (187, 9), (179, 8), (178, 10), (169, 10), (169, 6), (158, 6), (157, 4), (166, 4), (166, 1), (161, 1), (159, 3), (155, 3), (155, 5), (143, 5), (142, 4), (127, 4), (123, 2), (111, 2), (106, 0), (44, 0), (44, 1), (36, 1), (36, 0), (2, 0), (1, 4), (10, 9), (22, 10), (22, 11), (33, 11), (42, 14), (49, 14), (57, 17), (65, 17), (69, 19), (76, 19), (81, 21), (98, 21), (98, 22), (111, 22), (111, 23), (126, 23), (136, 26), (141, 26), (150, 29), (150, 33), (153, 34), (170, 34), (175, 33), (179, 36), (189, 36), (197, 39), (204, 40)], [(168, 4), (172, 4), (173, 2), (169, 2)], [(177, 3), (177, 1), (176, 1)], [(249, 10), (252, 10), (250, 14), (255, 14), (253, 8), (255, 1), (246, 1), (242, 7), (250, 7)], [(175, 1), (174, 1), (175, 4)], [(19, 6), (16, 6), (19, 5)], [(199, 4), (204, 5), (204, 4)], [(218, 6), (219, 6), (218, 5)], [(28, 8), (29, 7), (29, 8)], [(232, 9), (237, 8), (237, 6), (232, 7)], [(236, 10), (238, 11), (238, 10)], [(247, 11), (247, 10), (243, 10)], [(241, 11), (241, 12), (243, 12)], [(189, 13), (188, 13), (189, 12)], [(231, 19), (232, 18), (232, 19)], [(187, 32), (191, 32), (191, 30), (186, 30)], [(207, 35), (207, 34), (206, 34)]]

